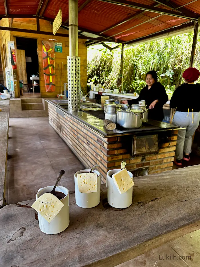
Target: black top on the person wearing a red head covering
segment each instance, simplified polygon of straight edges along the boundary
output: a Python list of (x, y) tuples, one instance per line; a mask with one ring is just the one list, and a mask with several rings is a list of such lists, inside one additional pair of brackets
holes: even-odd
[(192, 112), (200, 111), (200, 84), (183, 83), (173, 93), (170, 100), (170, 107), (176, 111)]

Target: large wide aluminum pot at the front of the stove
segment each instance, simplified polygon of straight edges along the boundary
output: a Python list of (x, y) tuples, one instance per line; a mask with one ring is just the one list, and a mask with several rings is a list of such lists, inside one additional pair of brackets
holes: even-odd
[(142, 109), (117, 110), (117, 124), (126, 129), (137, 129), (141, 127), (142, 118)]

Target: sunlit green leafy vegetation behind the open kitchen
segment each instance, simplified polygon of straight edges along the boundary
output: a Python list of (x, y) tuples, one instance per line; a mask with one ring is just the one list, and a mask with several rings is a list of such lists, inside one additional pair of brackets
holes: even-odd
[[(189, 67), (193, 32), (124, 48), (123, 88), (137, 92), (146, 85), (145, 74), (155, 70), (169, 97), (183, 82), (182, 73)], [(116, 44), (107, 43), (114, 47)], [(121, 49), (109, 51), (102, 45), (88, 48), (88, 84), (101, 83), (116, 88), (120, 75)], [(194, 67), (200, 69), (200, 35), (197, 39)]]

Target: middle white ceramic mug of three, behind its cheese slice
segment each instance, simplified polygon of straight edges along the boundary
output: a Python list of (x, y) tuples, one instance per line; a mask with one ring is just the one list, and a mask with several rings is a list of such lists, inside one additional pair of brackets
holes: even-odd
[(81, 208), (93, 208), (100, 203), (101, 174), (99, 171), (93, 170), (97, 174), (97, 192), (81, 193), (79, 191), (77, 174), (89, 171), (90, 169), (80, 170), (74, 174), (76, 204)]

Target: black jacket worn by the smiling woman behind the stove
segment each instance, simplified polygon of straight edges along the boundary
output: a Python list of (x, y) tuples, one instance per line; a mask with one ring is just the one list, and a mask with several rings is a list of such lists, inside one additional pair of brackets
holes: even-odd
[(165, 87), (161, 83), (154, 83), (150, 89), (148, 89), (148, 85), (145, 86), (141, 90), (139, 97), (129, 100), (128, 104), (138, 104), (138, 101), (145, 100), (147, 108), (149, 108), (149, 105), (156, 99), (158, 99), (158, 103), (155, 104), (153, 109), (149, 109), (148, 119), (162, 121), (164, 118), (163, 105), (168, 101), (168, 95)]

